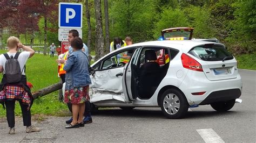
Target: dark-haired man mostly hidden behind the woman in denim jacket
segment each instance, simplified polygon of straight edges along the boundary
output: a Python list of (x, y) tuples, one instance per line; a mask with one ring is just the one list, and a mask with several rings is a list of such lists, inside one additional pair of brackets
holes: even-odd
[[(71, 44), (71, 41), (75, 38), (75, 37), (79, 37), (79, 33), (77, 30), (70, 30), (69, 31), (69, 35), (68, 35), (68, 41), (69, 41), (69, 44)], [(85, 52), (85, 54), (87, 55), (88, 57), (88, 48), (85, 44), (83, 44), (83, 49), (82, 51)], [(68, 54), (71, 54), (73, 52), (72, 50), (72, 47), (69, 46), (69, 51), (64, 53), (64, 55), (68, 55)], [(68, 56), (65, 56), (65, 59), (61, 59), (61, 60), (57, 60), (59, 63), (61, 64), (64, 64), (66, 59), (68, 59)], [(65, 79), (65, 77), (63, 76), (60, 76), (63, 79)], [(63, 81), (64, 83), (65, 81)], [(68, 106), (71, 106), (71, 103), (68, 103)], [(85, 102), (85, 112), (84, 112), (84, 123), (85, 124), (89, 124), (89, 123), (92, 123), (92, 117), (91, 117), (91, 103), (88, 101), (88, 102)], [(72, 122), (73, 118), (71, 117), (69, 120), (66, 121), (66, 124), (70, 124)]]

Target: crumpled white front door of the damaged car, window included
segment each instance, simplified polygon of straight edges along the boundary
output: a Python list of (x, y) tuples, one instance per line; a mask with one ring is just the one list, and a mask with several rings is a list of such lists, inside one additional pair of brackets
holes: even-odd
[(131, 47), (113, 52), (100, 62), (99, 68), (90, 76), (91, 103), (105, 100), (128, 101), (124, 96), (122, 85), (124, 67), (127, 65), (123, 58), (129, 61), (133, 51), (134, 48)]

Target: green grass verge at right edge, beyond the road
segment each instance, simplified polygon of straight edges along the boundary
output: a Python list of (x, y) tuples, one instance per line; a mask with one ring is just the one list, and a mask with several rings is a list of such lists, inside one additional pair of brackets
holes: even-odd
[(237, 55), (238, 68), (256, 70), (256, 52), (253, 54)]

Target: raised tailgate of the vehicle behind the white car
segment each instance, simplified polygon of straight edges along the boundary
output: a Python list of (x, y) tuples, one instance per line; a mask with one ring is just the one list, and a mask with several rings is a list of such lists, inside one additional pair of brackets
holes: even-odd
[(191, 40), (194, 28), (177, 27), (161, 31), (162, 40)]

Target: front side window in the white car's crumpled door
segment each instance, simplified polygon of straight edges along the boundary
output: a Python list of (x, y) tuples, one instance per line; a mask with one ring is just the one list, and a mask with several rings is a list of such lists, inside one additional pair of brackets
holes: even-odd
[(110, 58), (107, 58), (103, 61), (102, 69), (110, 69), (116, 67), (124, 67), (131, 59), (134, 49), (123, 51), (117, 54), (112, 55)]

